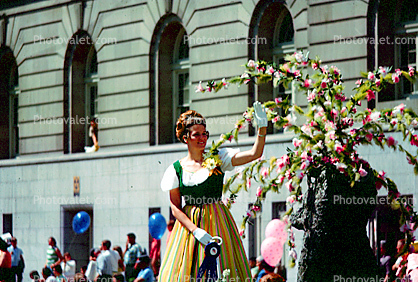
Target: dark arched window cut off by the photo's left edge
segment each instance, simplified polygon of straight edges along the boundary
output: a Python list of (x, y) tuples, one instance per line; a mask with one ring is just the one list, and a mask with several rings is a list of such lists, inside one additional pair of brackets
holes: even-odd
[(8, 47), (0, 49), (0, 159), (19, 155), (19, 74)]

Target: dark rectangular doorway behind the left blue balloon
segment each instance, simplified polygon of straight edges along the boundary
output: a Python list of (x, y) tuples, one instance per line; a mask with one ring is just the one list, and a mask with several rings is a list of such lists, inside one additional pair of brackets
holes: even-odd
[[(86, 232), (77, 234), (73, 230), (72, 223), (74, 216), (80, 211), (85, 211), (90, 216), (90, 227)], [(80, 272), (82, 266), (88, 265), (90, 249), (93, 247), (93, 207), (90, 205), (62, 206), (61, 232), (62, 253), (70, 253), (71, 258), (77, 262), (77, 272)]]

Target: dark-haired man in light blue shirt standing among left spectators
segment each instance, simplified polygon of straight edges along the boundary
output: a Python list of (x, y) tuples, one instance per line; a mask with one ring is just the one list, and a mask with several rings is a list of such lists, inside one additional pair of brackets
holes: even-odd
[(125, 279), (129, 282), (130, 279), (135, 279), (138, 275), (137, 259), (144, 253), (144, 250), (135, 242), (136, 236), (134, 233), (129, 233), (127, 237), (123, 258), (125, 263)]

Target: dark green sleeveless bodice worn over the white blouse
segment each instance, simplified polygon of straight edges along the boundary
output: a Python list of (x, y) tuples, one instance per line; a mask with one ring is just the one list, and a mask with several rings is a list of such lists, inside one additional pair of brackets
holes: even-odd
[[(205, 181), (193, 186), (183, 184), (183, 168), (180, 161), (176, 161), (174, 169), (179, 179), (180, 194), (183, 196), (187, 205), (200, 206), (211, 204), (221, 200), (224, 173), (213, 173)], [(220, 171), (220, 170), (219, 170)]]

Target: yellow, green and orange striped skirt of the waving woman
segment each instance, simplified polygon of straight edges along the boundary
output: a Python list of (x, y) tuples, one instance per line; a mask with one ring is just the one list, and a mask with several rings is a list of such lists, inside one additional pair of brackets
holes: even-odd
[[(222, 238), (219, 256), (221, 274), (229, 269), (231, 281), (251, 281), (248, 259), (229, 209), (222, 202), (217, 202), (201, 207), (186, 205), (183, 211), (197, 227), (206, 230), (211, 236)], [(193, 234), (176, 221), (161, 262), (158, 280), (195, 282), (204, 251), (204, 246)]]

